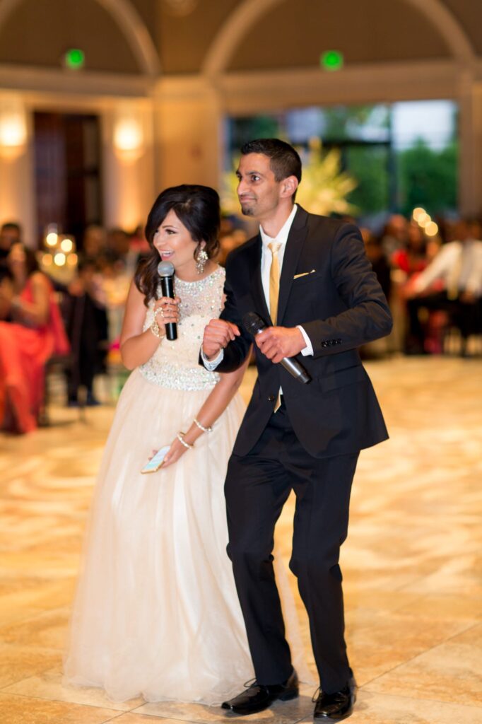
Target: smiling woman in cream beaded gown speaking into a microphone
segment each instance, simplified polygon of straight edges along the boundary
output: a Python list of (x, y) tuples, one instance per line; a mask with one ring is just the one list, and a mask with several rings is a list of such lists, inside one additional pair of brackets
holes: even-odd
[[(224, 269), (211, 261), (218, 231), (214, 190), (161, 193), (146, 226), (151, 258), (127, 300), (121, 350), (133, 371), (98, 473), (64, 662), (64, 681), (116, 701), (216, 704), (253, 676), (223, 492), (244, 369), (198, 364), (203, 329), (223, 304)], [(161, 297), (159, 256), (174, 264), (174, 301)], [(177, 340), (166, 340), (163, 321), (177, 322)], [(164, 466), (141, 474), (169, 444)]]

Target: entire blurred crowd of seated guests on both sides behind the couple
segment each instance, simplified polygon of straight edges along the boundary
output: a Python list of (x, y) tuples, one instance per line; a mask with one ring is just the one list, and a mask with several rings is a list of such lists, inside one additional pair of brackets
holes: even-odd
[[(356, 223), (355, 219), (346, 219)], [(366, 355), (457, 350), (482, 333), (482, 228), (477, 219), (439, 222), (428, 235), (415, 219), (394, 214), (379, 234), (361, 228), (373, 271), (394, 316), (382, 348)], [(221, 226), (219, 263), (253, 229), (238, 219)], [(149, 246), (131, 233), (90, 226), (68, 281), (42, 267), (42, 254), (22, 239), (17, 222), (0, 229), (0, 429), (35, 429), (45, 405), (45, 376), (61, 364), (70, 406), (97, 405), (94, 379), (121, 366), (119, 334), (132, 276)]]

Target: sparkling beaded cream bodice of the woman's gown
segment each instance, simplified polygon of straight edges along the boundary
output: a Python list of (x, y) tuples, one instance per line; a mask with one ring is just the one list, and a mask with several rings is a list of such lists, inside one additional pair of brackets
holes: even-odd
[[(218, 382), (219, 374), (208, 372), (198, 359), (204, 327), (221, 313), (224, 277), (221, 266), (199, 282), (183, 282), (174, 277), (174, 292), (181, 300), (177, 340), (161, 340), (151, 359), (139, 367), (150, 382), (171, 390), (208, 390)], [(161, 297), (160, 284), (157, 297)], [(153, 323), (154, 302), (149, 302), (143, 329)]]

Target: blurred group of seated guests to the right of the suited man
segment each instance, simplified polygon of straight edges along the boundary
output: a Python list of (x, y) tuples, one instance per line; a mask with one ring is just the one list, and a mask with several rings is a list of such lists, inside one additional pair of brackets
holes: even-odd
[(394, 316), (388, 350), (444, 353), (454, 333), (461, 355), (482, 332), (482, 226), (444, 219), (427, 235), (415, 219), (391, 216), (380, 235), (362, 228), (365, 251)]

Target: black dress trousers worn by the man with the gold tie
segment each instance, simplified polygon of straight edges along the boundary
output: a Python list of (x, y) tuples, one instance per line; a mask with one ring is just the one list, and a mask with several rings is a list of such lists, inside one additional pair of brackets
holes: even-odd
[(272, 565), (274, 526), (292, 489), (296, 508), (289, 568), (308, 611), (321, 687), (331, 694), (350, 677), (338, 561), (357, 460), (358, 453), (310, 456), (293, 432), (284, 404), (253, 450), (229, 460), (227, 550), (258, 683), (281, 683), (292, 671)]

